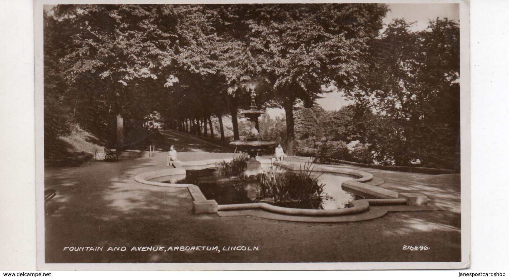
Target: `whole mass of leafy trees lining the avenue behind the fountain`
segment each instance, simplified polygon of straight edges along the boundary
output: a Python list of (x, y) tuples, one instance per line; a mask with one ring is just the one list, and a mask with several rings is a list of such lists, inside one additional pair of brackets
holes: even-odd
[[(459, 26), (437, 18), (412, 31), (403, 19), (384, 26), (386, 13), (382, 4), (55, 6), (44, 17), (45, 140), (79, 125), (122, 147), (125, 128), (156, 114), (221, 140), (228, 122), (238, 140), (251, 87), (259, 108), (285, 110), (260, 127), (289, 155), (359, 141), (381, 163), (448, 168), (459, 152)], [(324, 111), (315, 100), (325, 87), (353, 104)]]

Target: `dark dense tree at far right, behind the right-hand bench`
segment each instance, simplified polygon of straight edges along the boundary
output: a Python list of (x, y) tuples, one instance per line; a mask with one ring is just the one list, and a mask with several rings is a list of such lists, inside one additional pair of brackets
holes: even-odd
[[(412, 31), (394, 20), (374, 48), (370, 74), (347, 91), (381, 162), (450, 167), (459, 151), (459, 27), (447, 19)], [(362, 110), (360, 109), (360, 110)], [(362, 120), (362, 121), (364, 121)]]

